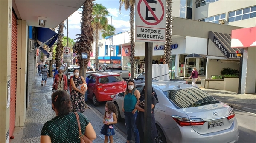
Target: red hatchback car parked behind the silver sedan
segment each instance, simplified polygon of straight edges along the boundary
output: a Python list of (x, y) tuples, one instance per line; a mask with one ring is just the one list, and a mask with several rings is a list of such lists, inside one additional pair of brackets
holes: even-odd
[(117, 93), (126, 90), (126, 82), (117, 73), (93, 73), (88, 78), (88, 98), (93, 100), (94, 106), (102, 101), (112, 101)]

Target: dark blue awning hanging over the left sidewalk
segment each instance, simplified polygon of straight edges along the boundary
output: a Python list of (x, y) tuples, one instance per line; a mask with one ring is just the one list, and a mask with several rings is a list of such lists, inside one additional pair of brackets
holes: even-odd
[(48, 47), (52, 47), (52, 45), (58, 39), (58, 34), (52, 31), (49, 28), (43, 27), (34, 27), (35, 28), (35, 35), (36, 35), (36, 47), (43, 52), (47, 58), (49, 58), (49, 53), (44, 50), (43, 46), (48, 45)]

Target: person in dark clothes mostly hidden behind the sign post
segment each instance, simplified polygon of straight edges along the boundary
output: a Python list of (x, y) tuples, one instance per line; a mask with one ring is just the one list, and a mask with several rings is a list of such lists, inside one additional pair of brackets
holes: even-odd
[[(156, 98), (154, 97), (156, 93), (154, 92), (153, 88), (152, 88), (152, 105), (151, 105), (151, 143), (155, 143), (155, 137), (157, 137), (157, 126), (156, 126), (156, 121), (154, 118), (154, 108), (155, 105), (157, 103)], [(135, 108), (139, 111), (138, 112), (138, 116), (136, 119), (136, 126), (139, 130), (139, 135), (140, 135), (140, 143), (143, 143), (144, 140), (144, 105), (145, 105), (145, 87), (141, 93), (141, 96), (139, 98), (139, 100), (136, 103)]]

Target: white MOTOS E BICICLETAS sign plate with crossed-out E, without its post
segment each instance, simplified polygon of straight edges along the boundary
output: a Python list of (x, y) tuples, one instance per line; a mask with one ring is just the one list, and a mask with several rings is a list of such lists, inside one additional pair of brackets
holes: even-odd
[(166, 0), (136, 0), (135, 41), (164, 43)]

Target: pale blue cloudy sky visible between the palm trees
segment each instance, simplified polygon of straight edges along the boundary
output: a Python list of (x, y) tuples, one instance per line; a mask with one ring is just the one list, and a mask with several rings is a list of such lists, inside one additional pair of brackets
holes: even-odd
[[(116, 33), (125, 32), (130, 30), (129, 22), (129, 10), (126, 11), (123, 7), (121, 10), (121, 15), (119, 14), (119, 0), (96, 0), (95, 3), (102, 4), (108, 8), (109, 15), (112, 16), (112, 25), (116, 28)], [(111, 24), (111, 17), (108, 16), (108, 24)], [(74, 12), (70, 17), (68, 17), (68, 36), (71, 39), (76, 39), (79, 36), (76, 34), (81, 34), (80, 29), (81, 14), (78, 11)], [(64, 35), (67, 35), (67, 31), (64, 28)], [(75, 40), (76, 41), (76, 40)]]

